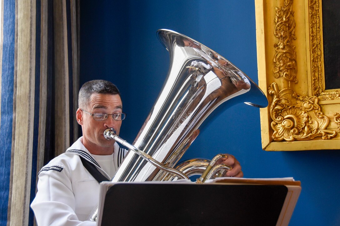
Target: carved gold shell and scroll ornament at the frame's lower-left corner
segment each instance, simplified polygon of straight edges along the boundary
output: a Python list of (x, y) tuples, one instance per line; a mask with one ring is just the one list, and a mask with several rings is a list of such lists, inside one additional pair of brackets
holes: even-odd
[(298, 95), (290, 88), (279, 90), (275, 82), (268, 91), (273, 96), (270, 117), (274, 140), (309, 140), (318, 136), (330, 139), (336, 136), (336, 131), (326, 129), (329, 118), (322, 113), (318, 97)]

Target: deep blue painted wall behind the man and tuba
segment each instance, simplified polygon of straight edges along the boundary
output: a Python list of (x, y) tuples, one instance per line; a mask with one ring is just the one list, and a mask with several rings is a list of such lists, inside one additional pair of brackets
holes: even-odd
[[(120, 136), (129, 142), (147, 117), (169, 67), (157, 29), (200, 41), (258, 81), (254, 1), (209, 2), (81, 1), (81, 84), (107, 79), (119, 87), (128, 114)], [(266, 152), (260, 133), (259, 109), (240, 103), (201, 130), (185, 158), (231, 153), (245, 177), (292, 176), (301, 181), (302, 192), (290, 225), (340, 225), (339, 150)]]

